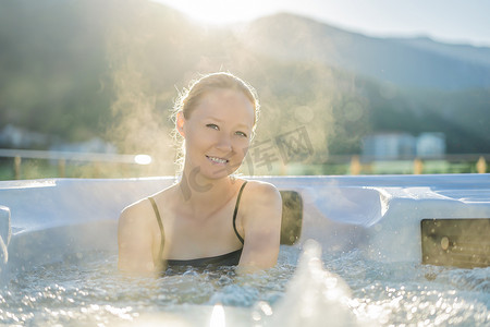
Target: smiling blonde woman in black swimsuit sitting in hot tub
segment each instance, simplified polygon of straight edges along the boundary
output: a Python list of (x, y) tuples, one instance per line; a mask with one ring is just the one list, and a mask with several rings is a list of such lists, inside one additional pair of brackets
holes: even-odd
[(265, 182), (232, 173), (255, 131), (255, 92), (230, 73), (195, 82), (175, 106), (184, 138), (179, 183), (126, 207), (119, 221), (119, 268), (161, 274), (175, 266), (233, 266), (255, 271), (275, 265), (282, 201)]

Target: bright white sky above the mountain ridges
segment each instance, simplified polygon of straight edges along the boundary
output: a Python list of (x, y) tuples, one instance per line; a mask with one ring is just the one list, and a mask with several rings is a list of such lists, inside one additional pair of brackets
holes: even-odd
[(490, 0), (154, 0), (210, 24), (290, 12), (369, 36), (490, 47)]

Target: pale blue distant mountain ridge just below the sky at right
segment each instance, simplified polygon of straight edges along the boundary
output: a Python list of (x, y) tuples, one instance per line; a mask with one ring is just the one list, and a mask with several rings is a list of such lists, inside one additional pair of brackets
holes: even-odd
[(321, 62), (401, 87), (490, 87), (490, 48), (373, 38), (285, 13), (250, 23), (245, 39), (259, 53)]

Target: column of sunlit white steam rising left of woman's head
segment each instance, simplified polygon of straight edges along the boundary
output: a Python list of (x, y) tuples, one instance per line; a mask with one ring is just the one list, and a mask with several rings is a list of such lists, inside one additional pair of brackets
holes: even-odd
[[(133, 23), (140, 24), (145, 20), (144, 12), (135, 20)], [(174, 142), (169, 131), (170, 110), (158, 108), (161, 95), (145, 73), (149, 62), (144, 49), (150, 35), (145, 27), (138, 28), (138, 24), (118, 25), (109, 39), (108, 53), (115, 94), (109, 138), (121, 153), (150, 156), (148, 173), (173, 174)], [(170, 104), (166, 109), (170, 109)]]

